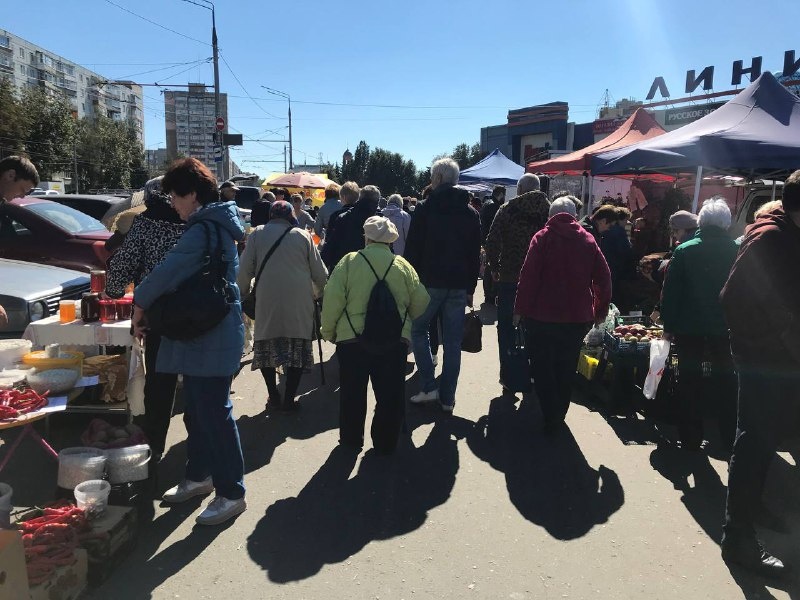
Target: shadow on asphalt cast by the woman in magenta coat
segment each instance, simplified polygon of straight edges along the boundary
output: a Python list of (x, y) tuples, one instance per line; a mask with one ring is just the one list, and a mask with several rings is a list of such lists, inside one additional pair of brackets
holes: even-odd
[(523, 517), (556, 539), (576, 539), (608, 521), (625, 495), (614, 471), (588, 464), (568, 427), (552, 436), (538, 433), (534, 398), (525, 395), (519, 406), (513, 396), (492, 400), (467, 444), (505, 473), (509, 499)]

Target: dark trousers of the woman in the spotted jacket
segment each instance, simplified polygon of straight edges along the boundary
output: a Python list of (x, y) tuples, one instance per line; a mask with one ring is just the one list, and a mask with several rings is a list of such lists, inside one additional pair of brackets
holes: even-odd
[(156, 370), (161, 336), (148, 333), (144, 346), (144, 432), (155, 455), (164, 454), (169, 421), (175, 403), (175, 386), (178, 376)]

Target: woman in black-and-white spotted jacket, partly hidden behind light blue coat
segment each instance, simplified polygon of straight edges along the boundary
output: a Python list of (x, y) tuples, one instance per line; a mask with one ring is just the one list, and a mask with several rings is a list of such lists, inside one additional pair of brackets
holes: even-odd
[[(139, 285), (167, 253), (178, 243), (184, 222), (175, 212), (169, 196), (161, 193), (162, 177), (151, 179), (144, 187), (145, 211), (136, 215), (122, 245), (108, 261), (106, 295), (121, 298), (133, 283)], [(150, 333), (145, 338), (144, 431), (158, 464), (167, 441), (169, 421), (175, 399), (178, 376), (156, 369), (161, 336)]]

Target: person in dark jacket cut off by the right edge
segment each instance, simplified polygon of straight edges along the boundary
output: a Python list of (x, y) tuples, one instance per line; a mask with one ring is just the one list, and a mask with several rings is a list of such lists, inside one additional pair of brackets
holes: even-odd
[(756, 539), (768, 467), (800, 425), (800, 171), (783, 186), (783, 209), (750, 226), (720, 301), (739, 375), (736, 442), (728, 475), (722, 557), (767, 575), (783, 563)]

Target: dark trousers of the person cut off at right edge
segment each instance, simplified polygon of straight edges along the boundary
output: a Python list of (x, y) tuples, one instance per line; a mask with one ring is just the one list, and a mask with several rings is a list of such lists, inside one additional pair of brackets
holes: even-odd
[(800, 375), (737, 365), (739, 420), (728, 470), (725, 537), (755, 537), (769, 465), (800, 427)]

